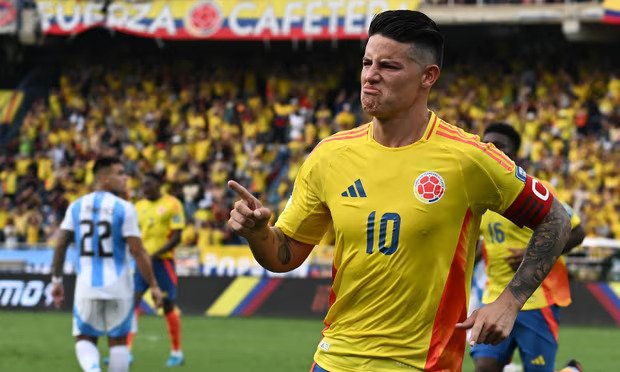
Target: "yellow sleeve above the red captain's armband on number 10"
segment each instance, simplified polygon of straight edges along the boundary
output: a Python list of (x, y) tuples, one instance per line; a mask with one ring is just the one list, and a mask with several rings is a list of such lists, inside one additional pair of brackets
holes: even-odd
[[(463, 163), (465, 189), (472, 212), (490, 209), (504, 213), (525, 186), (525, 171), (492, 144), (466, 152)], [(481, 151), (482, 150), (482, 151)]]

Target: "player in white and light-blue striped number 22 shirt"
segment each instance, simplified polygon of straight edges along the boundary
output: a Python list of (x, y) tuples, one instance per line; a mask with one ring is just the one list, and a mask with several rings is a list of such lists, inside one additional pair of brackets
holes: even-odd
[(161, 304), (151, 261), (142, 246), (133, 205), (117, 195), (126, 192), (127, 176), (117, 158), (101, 158), (93, 168), (95, 191), (73, 202), (60, 226), (54, 252), (52, 296), (64, 300), (63, 264), (71, 242), (80, 251), (73, 305), (75, 352), (84, 371), (99, 371), (99, 336), (108, 336), (110, 371), (129, 369), (127, 334), (133, 318), (133, 279), (129, 253), (146, 278), (153, 301)]

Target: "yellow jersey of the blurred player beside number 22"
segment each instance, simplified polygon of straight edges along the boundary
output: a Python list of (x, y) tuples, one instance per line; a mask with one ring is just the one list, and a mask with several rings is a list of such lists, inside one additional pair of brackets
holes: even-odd
[[(182, 230), (185, 227), (183, 205), (172, 195), (165, 194), (154, 201), (142, 199), (136, 203), (136, 212), (144, 248), (150, 255), (166, 244), (173, 230)], [(158, 258), (173, 259), (174, 250)]]

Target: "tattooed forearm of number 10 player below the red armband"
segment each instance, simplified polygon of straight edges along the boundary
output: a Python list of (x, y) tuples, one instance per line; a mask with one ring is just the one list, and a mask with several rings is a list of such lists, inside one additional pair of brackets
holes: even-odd
[(558, 259), (570, 235), (570, 218), (557, 200), (543, 221), (534, 229), (523, 262), (508, 284), (521, 303), (534, 293)]

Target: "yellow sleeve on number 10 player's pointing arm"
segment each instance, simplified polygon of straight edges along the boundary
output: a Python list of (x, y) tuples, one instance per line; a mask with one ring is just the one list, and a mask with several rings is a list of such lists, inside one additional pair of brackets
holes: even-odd
[(318, 244), (331, 223), (331, 214), (322, 193), (321, 161), (324, 146), (317, 148), (299, 169), (291, 195), (276, 227), (284, 234), (307, 244)]

